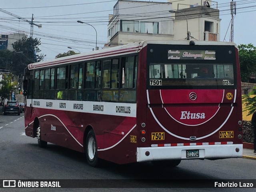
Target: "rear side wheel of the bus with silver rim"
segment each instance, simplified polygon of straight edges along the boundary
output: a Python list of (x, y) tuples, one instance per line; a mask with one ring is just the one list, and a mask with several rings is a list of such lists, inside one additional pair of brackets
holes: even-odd
[(86, 137), (86, 159), (90, 166), (96, 167), (99, 165), (98, 155), (97, 155), (97, 143), (96, 137), (93, 130), (88, 132)]

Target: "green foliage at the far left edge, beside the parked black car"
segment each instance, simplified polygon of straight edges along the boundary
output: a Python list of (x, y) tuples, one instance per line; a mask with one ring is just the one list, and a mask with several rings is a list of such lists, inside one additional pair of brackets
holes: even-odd
[(0, 88), (0, 103), (4, 101), (4, 98), (10, 98), (12, 90), (12, 74), (3, 74), (3, 79), (0, 82), (2, 87)]

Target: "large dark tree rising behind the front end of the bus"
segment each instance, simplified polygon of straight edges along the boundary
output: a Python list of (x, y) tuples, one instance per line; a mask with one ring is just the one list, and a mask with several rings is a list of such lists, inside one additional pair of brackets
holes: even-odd
[(22, 38), (12, 44), (14, 52), (22, 52), (22, 54), (12, 54), (10, 66), (13, 74), (21, 76), (24, 69), (30, 63), (40, 62), (44, 59), (43, 54), (39, 54), (41, 50), (38, 46), (41, 45), (40, 39), (37, 38)]

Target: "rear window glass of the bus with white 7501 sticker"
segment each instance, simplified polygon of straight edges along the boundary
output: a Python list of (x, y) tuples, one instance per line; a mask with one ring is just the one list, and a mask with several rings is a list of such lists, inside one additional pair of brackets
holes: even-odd
[(234, 85), (232, 64), (150, 63), (148, 71), (150, 86)]

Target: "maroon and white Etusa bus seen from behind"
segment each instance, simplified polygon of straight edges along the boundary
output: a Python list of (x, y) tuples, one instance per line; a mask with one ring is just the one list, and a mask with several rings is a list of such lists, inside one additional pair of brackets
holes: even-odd
[(242, 157), (233, 43), (144, 41), (29, 64), (26, 135), (118, 164)]

